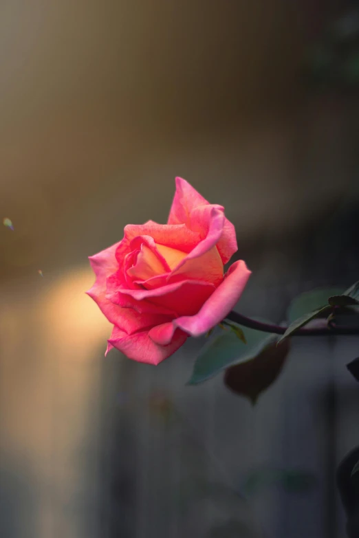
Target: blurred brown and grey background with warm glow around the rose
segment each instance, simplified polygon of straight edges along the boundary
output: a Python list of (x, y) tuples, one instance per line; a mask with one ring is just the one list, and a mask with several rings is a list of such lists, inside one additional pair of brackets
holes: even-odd
[[(235, 223), (253, 271), (238, 311), (282, 322), (301, 291), (358, 280), (359, 3), (0, 14), (0, 535), (344, 537), (358, 338), (294, 340), (253, 408), (221, 375), (185, 385), (203, 339), (157, 368), (105, 358), (111, 326), (85, 291), (87, 256), (166, 222), (176, 175)], [(273, 469), (248, 508), (244, 485)]]

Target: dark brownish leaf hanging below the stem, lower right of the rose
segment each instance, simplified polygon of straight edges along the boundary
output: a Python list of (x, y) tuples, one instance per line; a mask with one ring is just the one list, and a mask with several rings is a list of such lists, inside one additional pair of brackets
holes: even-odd
[(245, 396), (252, 405), (259, 394), (267, 389), (281, 373), (290, 350), (290, 341), (276, 346), (276, 335), (261, 340), (260, 346), (252, 350), (252, 358), (230, 366), (224, 375), (225, 385), (240, 396)]

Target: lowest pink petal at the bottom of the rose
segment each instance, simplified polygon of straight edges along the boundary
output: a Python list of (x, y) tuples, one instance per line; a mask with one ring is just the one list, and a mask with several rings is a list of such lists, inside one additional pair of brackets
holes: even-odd
[(129, 359), (157, 365), (177, 351), (187, 338), (188, 335), (186, 333), (177, 329), (173, 333), (171, 343), (166, 346), (160, 346), (149, 337), (149, 333), (146, 331), (127, 335), (118, 327), (113, 327), (107, 352), (114, 347), (124, 353)]

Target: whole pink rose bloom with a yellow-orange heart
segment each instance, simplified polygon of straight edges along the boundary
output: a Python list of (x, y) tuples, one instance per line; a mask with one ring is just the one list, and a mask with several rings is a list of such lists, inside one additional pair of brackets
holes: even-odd
[(158, 364), (221, 322), (250, 276), (243, 261), (224, 274), (235, 251), (224, 208), (177, 177), (167, 224), (129, 224), (120, 243), (89, 258), (96, 282), (87, 293), (113, 324), (106, 353)]

